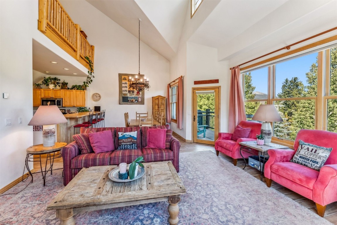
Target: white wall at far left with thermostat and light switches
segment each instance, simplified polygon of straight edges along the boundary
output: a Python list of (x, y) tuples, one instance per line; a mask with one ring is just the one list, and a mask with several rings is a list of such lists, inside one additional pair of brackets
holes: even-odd
[[(33, 144), (33, 129), (27, 124), (33, 114), (32, 32), (38, 16), (31, 13), (37, 11), (36, 5), (0, 1), (0, 92), (10, 95), (9, 99), (0, 98), (0, 188), (22, 175), (26, 149)], [(11, 126), (5, 126), (6, 118), (12, 119)]]

